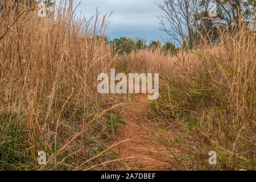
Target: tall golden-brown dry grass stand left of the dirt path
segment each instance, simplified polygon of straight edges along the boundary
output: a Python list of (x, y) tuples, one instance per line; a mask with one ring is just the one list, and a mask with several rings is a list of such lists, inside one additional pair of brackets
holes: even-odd
[(97, 93), (117, 56), (104, 38), (108, 16), (82, 19), (61, 1), (39, 18), (23, 2), (7, 1), (0, 19), (0, 170), (75, 169), (111, 144), (115, 102)]

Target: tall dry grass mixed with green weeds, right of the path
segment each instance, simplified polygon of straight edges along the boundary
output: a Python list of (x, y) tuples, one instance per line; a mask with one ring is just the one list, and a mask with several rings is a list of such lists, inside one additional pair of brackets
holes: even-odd
[[(131, 70), (162, 78), (148, 117), (179, 131), (160, 139), (174, 169), (256, 169), (255, 24), (249, 27), (241, 20), (220, 32), (220, 42), (174, 56), (160, 49), (127, 55)], [(217, 152), (217, 165), (209, 165), (209, 151)]]

